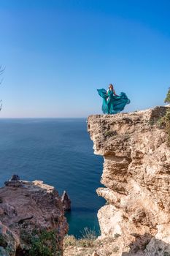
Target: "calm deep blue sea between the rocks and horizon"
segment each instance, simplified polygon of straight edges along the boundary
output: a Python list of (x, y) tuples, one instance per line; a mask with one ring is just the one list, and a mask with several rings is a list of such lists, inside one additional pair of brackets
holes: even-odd
[(84, 227), (98, 233), (103, 159), (93, 154), (85, 118), (0, 119), (0, 136), (0, 186), (15, 173), (53, 185), (60, 195), (66, 190), (69, 234), (79, 237)]

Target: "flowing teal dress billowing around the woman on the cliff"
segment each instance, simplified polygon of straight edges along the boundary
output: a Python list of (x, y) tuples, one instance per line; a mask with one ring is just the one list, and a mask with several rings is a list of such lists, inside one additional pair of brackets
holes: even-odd
[(130, 103), (130, 99), (124, 92), (120, 96), (113, 94), (113, 91), (108, 92), (105, 89), (97, 89), (98, 94), (103, 98), (102, 111), (104, 114), (116, 114), (125, 108), (126, 104)]

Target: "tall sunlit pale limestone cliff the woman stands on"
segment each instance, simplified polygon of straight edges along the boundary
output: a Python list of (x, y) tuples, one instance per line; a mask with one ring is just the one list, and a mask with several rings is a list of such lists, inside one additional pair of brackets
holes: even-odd
[(104, 157), (101, 238), (120, 236), (120, 255), (170, 253), (170, 146), (158, 127), (168, 108), (88, 117), (94, 152)]

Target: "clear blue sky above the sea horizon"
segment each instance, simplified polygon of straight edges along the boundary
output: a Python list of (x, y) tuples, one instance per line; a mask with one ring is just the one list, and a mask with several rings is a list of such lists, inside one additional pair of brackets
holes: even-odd
[(170, 86), (169, 0), (0, 0), (0, 117), (101, 113), (96, 89), (163, 105)]

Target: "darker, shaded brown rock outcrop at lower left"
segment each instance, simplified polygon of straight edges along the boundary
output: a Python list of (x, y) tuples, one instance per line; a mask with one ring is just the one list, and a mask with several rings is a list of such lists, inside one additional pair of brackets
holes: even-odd
[(54, 187), (11, 178), (0, 188), (0, 221), (0, 255), (29, 255), (31, 243), (45, 242), (50, 248), (52, 238), (56, 255), (62, 255), (68, 225)]

